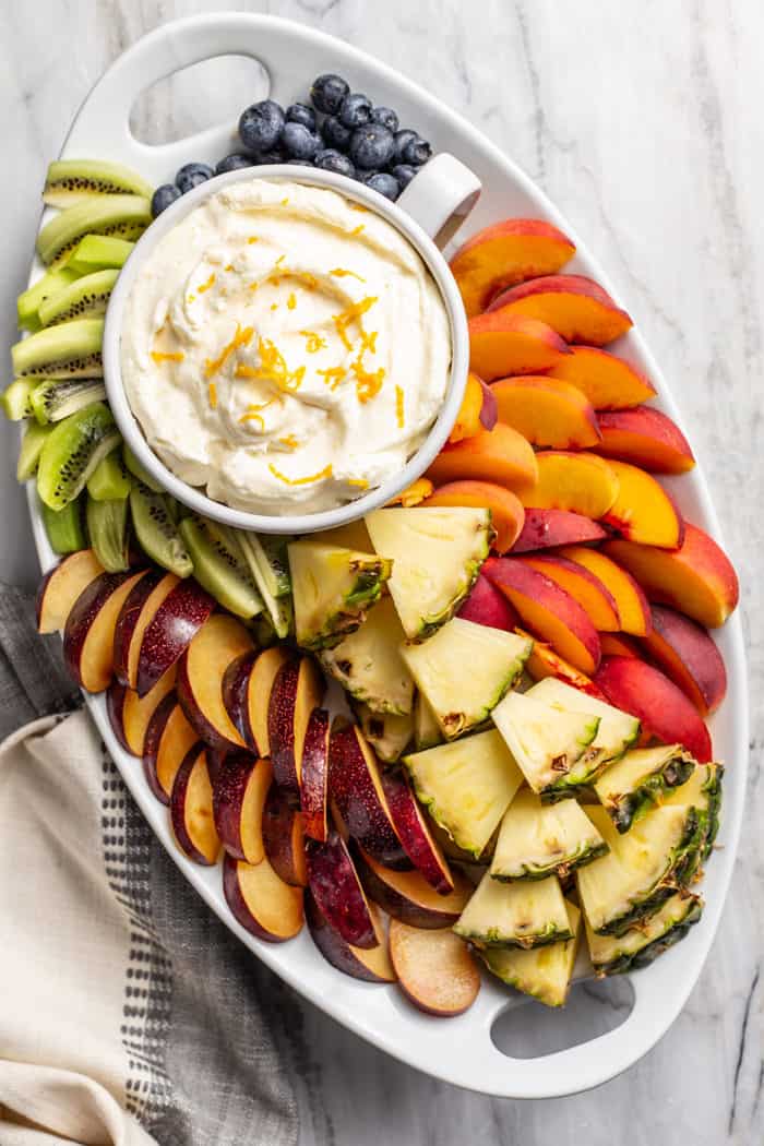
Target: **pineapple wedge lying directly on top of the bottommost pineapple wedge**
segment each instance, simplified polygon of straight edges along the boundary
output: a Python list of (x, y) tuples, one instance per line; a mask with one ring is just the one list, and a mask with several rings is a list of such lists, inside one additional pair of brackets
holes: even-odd
[(557, 876), (502, 884), (486, 872), (454, 931), (475, 947), (529, 949), (573, 939)]

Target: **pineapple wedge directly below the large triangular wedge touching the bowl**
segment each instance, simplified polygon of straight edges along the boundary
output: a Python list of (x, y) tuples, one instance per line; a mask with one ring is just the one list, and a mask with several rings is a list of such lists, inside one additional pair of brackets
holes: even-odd
[(512, 688), (533, 641), (454, 617), (401, 656), (447, 739), (482, 724)]

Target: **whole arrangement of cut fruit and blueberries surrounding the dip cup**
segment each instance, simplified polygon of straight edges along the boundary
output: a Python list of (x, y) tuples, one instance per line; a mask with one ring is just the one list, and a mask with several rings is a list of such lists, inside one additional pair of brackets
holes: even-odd
[(447, 445), (393, 504), (302, 536), (188, 510), (105, 400), (110, 293), (187, 190), (273, 163), (393, 201), (416, 179), (431, 144), (348, 80), (253, 104), (237, 150), (172, 183), (50, 164), (2, 395), (57, 555), (39, 629), (247, 933), (307, 929), (430, 1015), (488, 983), (560, 1007), (574, 975), (690, 933), (722, 816), (709, 630), (738, 582), (678, 509), (694, 457), (621, 352), (629, 314), (545, 219), (457, 240), (471, 372)]

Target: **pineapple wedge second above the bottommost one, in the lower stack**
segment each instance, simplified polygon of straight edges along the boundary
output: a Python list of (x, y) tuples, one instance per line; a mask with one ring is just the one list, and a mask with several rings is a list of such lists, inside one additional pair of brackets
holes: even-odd
[(545, 879), (605, 855), (607, 843), (575, 800), (545, 804), (522, 787), (507, 808), (490, 865), (494, 879)]

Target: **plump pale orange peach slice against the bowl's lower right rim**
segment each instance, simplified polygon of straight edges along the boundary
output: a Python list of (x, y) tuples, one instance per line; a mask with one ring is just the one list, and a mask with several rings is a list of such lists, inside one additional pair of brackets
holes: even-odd
[[(606, 464), (601, 457), (597, 461)], [(497, 422), (493, 430), (443, 446), (427, 477), (436, 486), (474, 478), (518, 489), (536, 481), (536, 455), (522, 434)]]

